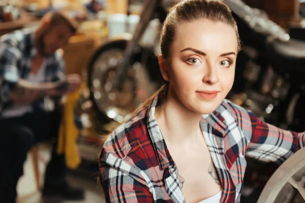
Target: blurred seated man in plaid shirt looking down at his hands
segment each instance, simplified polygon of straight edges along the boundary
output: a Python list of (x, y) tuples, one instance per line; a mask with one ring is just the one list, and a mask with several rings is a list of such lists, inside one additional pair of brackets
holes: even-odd
[(56, 154), (60, 98), (74, 92), (80, 76), (65, 76), (57, 51), (76, 32), (64, 14), (48, 13), (37, 28), (18, 30), (0, 38), (0, 202), (15, 202), (23, 163), (33, 145), (52, 140), (43, 195), (82, 199), (65, 179), (65, 156)]

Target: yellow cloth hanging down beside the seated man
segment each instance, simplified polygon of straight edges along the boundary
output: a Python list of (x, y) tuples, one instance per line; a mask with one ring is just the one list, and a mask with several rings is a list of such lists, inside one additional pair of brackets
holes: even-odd
[(79, 97), (79, 91), (67, 95), (58, 135), (57, 153), (65, 152), (66, 165), (71, 169), (77, 168), (81, 162), (77, 146), (79, 129), (76, 127), (74, 119), (74, 108)]

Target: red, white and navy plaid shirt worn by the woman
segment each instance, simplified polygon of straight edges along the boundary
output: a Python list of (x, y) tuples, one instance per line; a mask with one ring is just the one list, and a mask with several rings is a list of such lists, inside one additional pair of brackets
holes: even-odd
[[(100, 156), (100, 180), (107, 202), (185, 202), (177, 167), (154, 117), (157, 97), (116, 128)], [(221, 202), (239, 202), (245, 155), (283, 162), (304, 146), (304, 133), (286, 131), (228, 100), (201, 129), (222, 185)], [(199, 174), (198, 174), (199, 175)]]

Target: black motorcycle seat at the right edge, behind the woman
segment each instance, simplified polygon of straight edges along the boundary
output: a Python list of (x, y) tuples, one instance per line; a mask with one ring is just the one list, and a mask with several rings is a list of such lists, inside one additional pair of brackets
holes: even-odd
[(305, 73), (305, 42), (290, 39), (287, 42), (272, 40), (267, 43), (271, 65), (284, 73)]

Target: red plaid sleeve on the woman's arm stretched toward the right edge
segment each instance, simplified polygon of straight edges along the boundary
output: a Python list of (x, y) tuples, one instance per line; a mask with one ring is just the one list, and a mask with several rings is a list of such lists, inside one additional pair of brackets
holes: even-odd
[(250, 112), (252, 138), (247, 155), (262, 161), (284, 162), (304, 147), (305, 132), (297, 133), (270, 125)]

